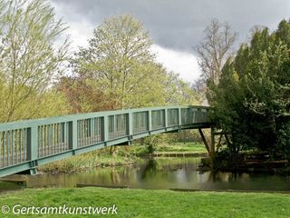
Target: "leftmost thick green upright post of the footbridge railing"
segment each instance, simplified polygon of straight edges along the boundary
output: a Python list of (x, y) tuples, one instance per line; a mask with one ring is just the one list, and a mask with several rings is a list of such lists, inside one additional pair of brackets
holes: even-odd
[(38, 154), (38, 126), (32, 126), (27, 129), (27, 159), (29, 161), (37, 160)]

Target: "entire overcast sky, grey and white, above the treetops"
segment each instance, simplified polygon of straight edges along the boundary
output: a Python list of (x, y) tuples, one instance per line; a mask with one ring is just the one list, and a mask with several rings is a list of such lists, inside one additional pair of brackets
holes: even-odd
[(193, 47), (211, 19), (228, 22), (245, 41), (254, 25), (271, 30), (290, 17), (289, 0), (50, 0), (55, 13), (70, 26), (73, 46), (87, 45), (92, 30), (112, 15), (130, 14), (150, 31), (153, 52), (169, 70), (189, 82), (199, 70)]

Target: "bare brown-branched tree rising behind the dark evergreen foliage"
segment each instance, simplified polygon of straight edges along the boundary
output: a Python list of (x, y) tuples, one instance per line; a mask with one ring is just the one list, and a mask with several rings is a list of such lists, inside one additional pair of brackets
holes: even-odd
[(227, 23), (212, 20), (206, 27), (204, 37), (195, 49), (204, 84), (218, 84), (221, 69), (231, 54), (236, 38), (237, 33)]

